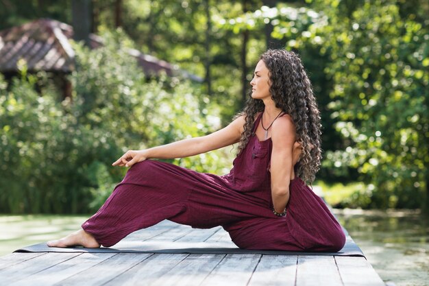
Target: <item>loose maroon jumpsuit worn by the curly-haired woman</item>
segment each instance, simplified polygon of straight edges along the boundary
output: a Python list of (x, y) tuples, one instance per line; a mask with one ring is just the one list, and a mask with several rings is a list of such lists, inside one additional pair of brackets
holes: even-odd
[(156, 160), (136, 163), (82, 228), (101, 245), (112, 246), (135, 230), (169, 219), (193, 228), (223, 226), (239, 248), (341, 250), (341, 226), (300, 178), (291, 180), (286, 216), (273, 214), (271, 150), (271, 139), (251, 136), (225, 176)]

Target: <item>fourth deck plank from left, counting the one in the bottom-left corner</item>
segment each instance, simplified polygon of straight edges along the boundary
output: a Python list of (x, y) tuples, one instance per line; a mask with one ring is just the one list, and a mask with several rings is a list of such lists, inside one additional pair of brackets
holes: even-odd
[[(151, 285), (171, 271), (189, 254), (154, 254), (142, 263), (138, 263), (103, 286)], [(144, 281), (144, 283), (142, 282)]]

